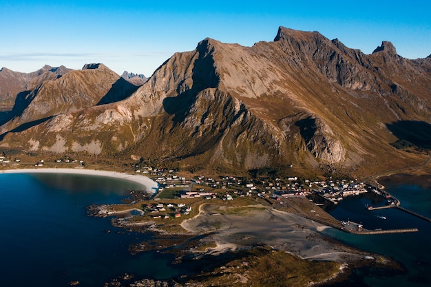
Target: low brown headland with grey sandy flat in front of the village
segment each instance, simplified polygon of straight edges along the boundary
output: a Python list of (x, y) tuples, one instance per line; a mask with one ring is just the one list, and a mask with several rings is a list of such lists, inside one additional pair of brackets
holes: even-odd
[[(165, 209), (162, 215), (155, 212), (153, 204)], [(178, 204), (189, 206), (190, 212), (175, 217)], [(305, 197), (292, 198), (290, 205), (297, 213), (298, 206), (308, 212), (317, 207)], [(93, 214), (108, 215), (116, 226), (155, 234), (151, 240), (131, 246), (133, 253), (152, 249), (174, 253), (174, 264), (189, 266), (187, 274), (165, 281), (169, 286), (313, 286), (343, 280), (351, 268), (359, 266), (401, 269), (390, 257), (326, 237), (322, 231), (328, 226), (285, 211), (286, 204), (277, 209), (279, 206), (260, 198), (238, 198), (229, 203), (202, 198), (142, 200), (99, 207)], [(136, 209), (145, 215), (132, 215)], [(317, 216), (334, 224), (325, 214), (319, 211)], [(265, 283), (256, 279), (267, 277), (272, 279)], [(145, 280), (151, 282), (151, 278), (137, 282)]]

